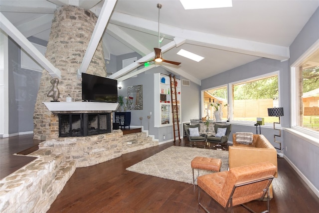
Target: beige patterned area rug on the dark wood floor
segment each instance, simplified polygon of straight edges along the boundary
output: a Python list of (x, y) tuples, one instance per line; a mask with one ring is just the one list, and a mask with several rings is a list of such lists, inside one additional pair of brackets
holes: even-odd
[[(171, 146), (126, 170), (144, 175), (151, 175), (173, 181), (193, 183), (193, 172), (190, 162), (195, 157), (219, 158), (222, 160), (220, 171), (228, 170), (228, 151), (198, 149), (190, 147)], [(199, 175), (212, 172), (199, 171)], [(197, 170), (194, 170), (195, 178)], [(195, 184), (197, 182), (195, 181)]]

